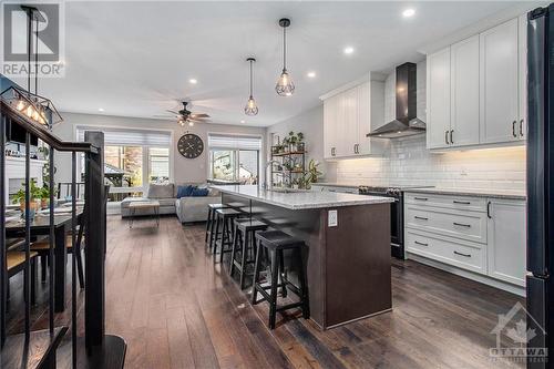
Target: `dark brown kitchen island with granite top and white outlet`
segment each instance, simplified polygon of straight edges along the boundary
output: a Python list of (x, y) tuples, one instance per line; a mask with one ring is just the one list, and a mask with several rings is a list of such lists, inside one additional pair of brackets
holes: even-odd
[[(310, 318), (322, 329), (389, 311), (390, 197), (214, 186), (222, 203), (301, 238)], [(294, 279), (295, 265), (286, 265)]]

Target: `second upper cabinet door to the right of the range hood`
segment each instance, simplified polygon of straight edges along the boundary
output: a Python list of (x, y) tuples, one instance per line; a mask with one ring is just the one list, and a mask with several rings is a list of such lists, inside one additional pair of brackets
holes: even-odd
[(452, 146), (479, 144), (479, 35), (450, 48)]

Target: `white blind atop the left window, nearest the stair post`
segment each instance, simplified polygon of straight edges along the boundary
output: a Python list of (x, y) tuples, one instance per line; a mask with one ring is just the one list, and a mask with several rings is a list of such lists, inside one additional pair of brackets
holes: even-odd
[(104, 144), (110, 146), (171, 146), (171, 133), (151, 130), (106, 129), (98, 126), (79, 126), (78, 141), (84, 141), (85, 131), (104, 133)]

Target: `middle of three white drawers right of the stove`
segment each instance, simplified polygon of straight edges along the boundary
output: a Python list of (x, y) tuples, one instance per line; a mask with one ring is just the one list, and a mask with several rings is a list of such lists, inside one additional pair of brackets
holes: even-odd
[(404, 223), (409, 228), (486, 244), (485, 213), (406, 205)]

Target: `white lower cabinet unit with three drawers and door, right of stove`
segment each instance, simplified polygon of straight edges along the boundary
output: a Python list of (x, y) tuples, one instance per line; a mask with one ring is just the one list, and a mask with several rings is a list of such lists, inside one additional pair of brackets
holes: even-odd
[(525, 286), (524, 201), (418, 193), (404, 199), (407, 253), (482, 275), (501, 288), (494, 280)]

